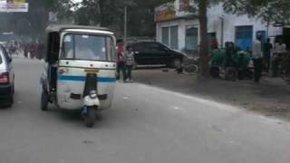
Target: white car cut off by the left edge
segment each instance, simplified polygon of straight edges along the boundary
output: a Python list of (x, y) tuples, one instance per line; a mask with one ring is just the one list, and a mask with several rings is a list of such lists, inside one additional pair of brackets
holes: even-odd
[(0, 106), (11, 107), (14, 102), (14, 67), (12, 58), (0, 44)]

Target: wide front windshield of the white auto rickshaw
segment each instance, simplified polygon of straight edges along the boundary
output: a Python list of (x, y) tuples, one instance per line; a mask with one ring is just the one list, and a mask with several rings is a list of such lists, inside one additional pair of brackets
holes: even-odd
[(66, 34), (63, 37), (63, 59), (114, 61), (110, 37), (90, 34)]

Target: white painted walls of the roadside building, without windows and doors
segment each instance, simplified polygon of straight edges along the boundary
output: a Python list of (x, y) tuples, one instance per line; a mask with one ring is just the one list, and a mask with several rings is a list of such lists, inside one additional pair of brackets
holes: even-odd
[[(223, 34), (223, 43), (222, 40), (222, 19), (224, 20), (224, 34)], [(185, 34), (186, 26), (194, 25), (198, 26), (198, 20), (176, 20), (168, 22), (157, 23), (157, 41), (162, 41), (162, 27), (179, 25), (179, 50), (185, 48)], [(215, 5), (208, 9), (208, 33), (216, 33), (218, 38), (218, 44), (221, 46), (226, 42), (234, 42), (236, 40), (236, 27), (243, 25), (252, 25), (253, 26), (253, 39), (256, 37), (257, 31), (266, 31), (266, 23), (263, 23), (262, 20), (256, 18), (249, 18), (247, 14), (236, 15), (236, 14), (226, 14), (223, 10), (222, 5)], [(274, 40), (275, 35), (280, 35), (283, 33), (282, 27), (270, 26), (268, 29), (268, 36), (272, 37)], [(199, 39), (200, 40), (200, 39)], [(253, 40), (254, 41), (254, 40)], [(199, 41), (198, 41), (199, 43)]]

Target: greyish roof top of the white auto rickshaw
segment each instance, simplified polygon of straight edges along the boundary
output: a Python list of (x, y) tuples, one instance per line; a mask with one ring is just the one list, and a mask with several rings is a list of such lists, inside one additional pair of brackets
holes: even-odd
[(61, 32), (67, 29), (99, 30), (99, 31), (111, 32), (108, 28), (104, 28), (104, 27), (74, 25), (74, 24), (51, 24), (46, 28), (46, 32), (47, 33)]

